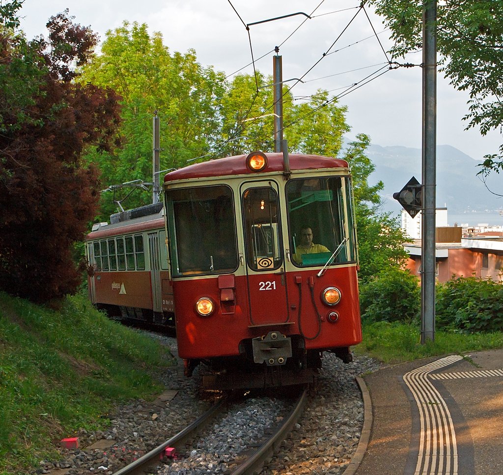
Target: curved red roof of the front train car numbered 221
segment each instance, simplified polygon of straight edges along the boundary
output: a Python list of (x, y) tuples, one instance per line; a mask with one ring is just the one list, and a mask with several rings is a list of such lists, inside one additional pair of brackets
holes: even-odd
[[(210, 176), (225, 176), (225, 175), (259, 175), (267, 172), (282, 172), (283, 154), (282, 153), (266, 153), (268, 164), (266, 168), (260, 172), (251, 171), (246, 166), (246, 157), (248, 155), (237, 155), (235, 157), (225, 157), (216, 160), (208, 160), (207, 162), (196, 163), (188, 167), (167, 173), (164, 176), (164, 183), (169, 183), (175, 180), (186, 180), (189, 178), (204, 178)], [(311, 170), (317, 168), (348, 168), (348, 162), (340, 158), (321, 157), (319, 155), (302, 155), (291, 154), (290, 170)]]

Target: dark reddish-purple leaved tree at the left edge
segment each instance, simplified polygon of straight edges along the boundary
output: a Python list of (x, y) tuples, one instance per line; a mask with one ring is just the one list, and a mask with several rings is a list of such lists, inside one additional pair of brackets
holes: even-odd
[(65, 11), (48, 39), (27, 41), (17, 12), (0, 5), (0, 289), (45, 302), (75, 291), (72, 245), (98, 206), (99, 171), (85, 147), (107, 151), (120, 121), (110, 89), (75, 85), (97, 37)]

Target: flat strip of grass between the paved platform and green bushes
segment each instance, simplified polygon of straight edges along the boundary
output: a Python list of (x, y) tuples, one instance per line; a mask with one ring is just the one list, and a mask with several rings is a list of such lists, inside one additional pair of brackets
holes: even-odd
[(437, 330), (435, 342), (420, 344), (420, 328), (414, 323), (363, 322), (363, 342), (354, 347), (384, 363), (403, 363), (431, 356), (462, 354), (503, 348), (503, 332), (456, 333)]

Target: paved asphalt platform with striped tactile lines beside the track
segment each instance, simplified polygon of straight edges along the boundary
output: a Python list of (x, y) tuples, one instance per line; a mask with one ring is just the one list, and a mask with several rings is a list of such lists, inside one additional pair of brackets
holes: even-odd
[(356, 475), (503, 473), (503, 350), (394, 365), (364, 379), (374, 420)]

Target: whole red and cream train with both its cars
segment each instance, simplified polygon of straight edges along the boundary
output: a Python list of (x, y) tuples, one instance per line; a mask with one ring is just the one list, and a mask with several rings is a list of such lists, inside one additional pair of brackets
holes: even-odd
[(309, 381), (323, 351), (351, 361), (362, 334), (346, 161), (253, 152), (168, 173), (163, 191), (163, 210), (93, 228), (93, 302), (162, 324), (174, 312), (186, 372), (209, 362), (207, 386)]

